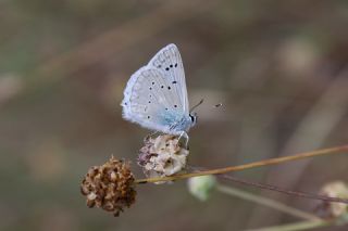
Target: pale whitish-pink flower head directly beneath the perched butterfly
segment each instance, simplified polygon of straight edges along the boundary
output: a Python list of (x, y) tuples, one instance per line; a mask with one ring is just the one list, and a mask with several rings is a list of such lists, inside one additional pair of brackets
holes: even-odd
[(172, 176), (185, 169), (188, 153), (175, 136), (148, 138), (140, 149), (138, 165), (147, 177)]

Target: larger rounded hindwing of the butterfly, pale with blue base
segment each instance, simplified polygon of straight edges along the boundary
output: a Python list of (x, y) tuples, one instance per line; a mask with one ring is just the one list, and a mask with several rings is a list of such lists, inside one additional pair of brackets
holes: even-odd
[(122, 101), (123, 117), (151, 130), (173, 133), (184, 112), (173, 84), (160, 69), (145, 66), (130, 77)]

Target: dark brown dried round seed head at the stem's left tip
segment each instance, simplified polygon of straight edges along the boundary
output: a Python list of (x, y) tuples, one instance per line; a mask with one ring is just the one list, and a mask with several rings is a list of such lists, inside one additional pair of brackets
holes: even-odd
[(100, 207), (119, 216), (135, 203), (134, 176), (129, 164), (113, 156), (101, 166), (91, 167), (80, 184), (88, 207)]

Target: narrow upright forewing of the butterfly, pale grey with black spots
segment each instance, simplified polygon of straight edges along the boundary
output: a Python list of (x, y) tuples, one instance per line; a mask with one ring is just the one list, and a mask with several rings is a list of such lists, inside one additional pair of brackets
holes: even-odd
[(175, 94), (178, 97), (178, 106), (188, 114), (189, 105), (185, 81), (185, 72), (181, 53), (175, 44), (161, 49), (149, 62), (148, 66), (161, 69), (169, 81), (173, 82)]

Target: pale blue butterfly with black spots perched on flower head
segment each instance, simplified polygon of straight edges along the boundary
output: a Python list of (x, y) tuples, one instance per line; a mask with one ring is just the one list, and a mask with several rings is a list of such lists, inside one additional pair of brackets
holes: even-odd
[(197, 116), (189, 112), (184, 65), (175, 44), (161, 49), (130, 76), (121, 105), (126, 120), (188, 138)]

